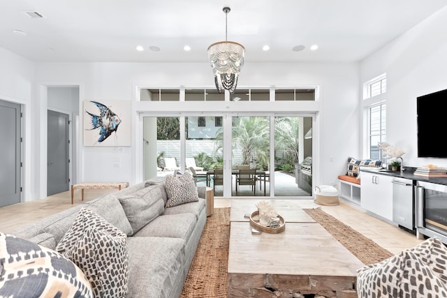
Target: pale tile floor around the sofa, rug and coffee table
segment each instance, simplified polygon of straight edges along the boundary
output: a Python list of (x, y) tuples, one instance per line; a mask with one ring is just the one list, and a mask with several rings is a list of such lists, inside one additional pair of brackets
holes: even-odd
[[(85, 201), (93, 200), (104, 193), (112, 191), (115, 190), (85, 190)], [(230, 199), (214, 198), (214, 208), (230, 207), (230, 202)], [(337, 206), (321, 206), (315, 204), (313, 200), (299, 200), (299, 202), (303, 208), (321, 207), (323, 211), (349, 225), (354, 230), (361, 232), (391, 253), (400, 253), (400, 251), (416, 246), (423, 241), (416, 239), (415, 235), (366, 214), (364, 211), (351, 207), (350, 204), (343, 201), (340, 201), (340, 204)], [(66, 191), (52, 195), (44, 200), (22, 202), (1, 207), (0, 231), (13, 232), (24, 225), (81, 203), (80, 191), (75, 193), (73, 205), (71, 204), (71, 192)]]

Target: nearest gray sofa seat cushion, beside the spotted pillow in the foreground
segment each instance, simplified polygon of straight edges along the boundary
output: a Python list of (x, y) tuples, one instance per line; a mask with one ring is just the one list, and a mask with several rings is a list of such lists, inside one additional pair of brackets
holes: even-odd
[(184, 283), (183, 239), (129, 237), (127, 297), (180, 297)]

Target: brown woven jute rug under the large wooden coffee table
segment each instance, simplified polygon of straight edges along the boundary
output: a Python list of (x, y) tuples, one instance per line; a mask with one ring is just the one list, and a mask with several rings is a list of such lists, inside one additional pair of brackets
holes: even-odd
[[(304, 210), (365, 265), (393, 255), (320, 208)], [(207, 218), (180, 297), (227, 297), (229, 239), (230, 208), (216, 208)]]

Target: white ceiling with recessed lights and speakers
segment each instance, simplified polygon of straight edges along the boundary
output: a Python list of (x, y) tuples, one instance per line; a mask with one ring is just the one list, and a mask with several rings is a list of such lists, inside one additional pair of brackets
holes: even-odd
[[(359, 61), (445, 0), (0, 0), (0, 47), (39, 62), (207, 61), (228, 40), (245, 62)], [(43, 18), (31, 18), (35, 11)], [(26, 33), (13, 33), (20, 30)], [(309, 50), (311, 45), (318, 50)], [(138, 52), (137, 45), (145, 50)], [(185, 52), (184, 45), (191, 51)], [(270, 50), (262, 50), (269, 45)], [(304, 45), (300, 52), (292, 50)], [(159, 52), (149, 50), (159, 47)]]

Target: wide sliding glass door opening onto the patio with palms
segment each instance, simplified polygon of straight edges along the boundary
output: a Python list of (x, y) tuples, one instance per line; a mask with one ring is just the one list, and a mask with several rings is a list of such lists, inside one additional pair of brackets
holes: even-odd
[(312, 116), (143, 117), (143, 139), (144, 179), (191, 172), (217, 198), (312, 195)]

